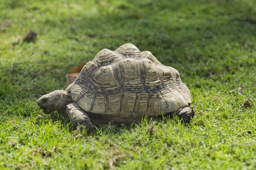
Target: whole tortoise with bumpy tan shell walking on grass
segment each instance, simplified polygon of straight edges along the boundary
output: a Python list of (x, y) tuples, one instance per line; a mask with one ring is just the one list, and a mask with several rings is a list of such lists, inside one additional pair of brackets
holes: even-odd
[(67, 113), (74, 125), (94, 130), (93, 121), (137, 122), (146, 115), (177, 115), (189, 122), (191, 95), (179, 72), (133, 44), (103, 49), (84, 65), (65, 91), (41, 96), (44, 113)]

